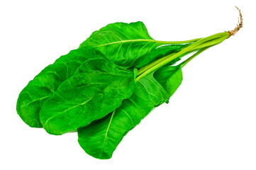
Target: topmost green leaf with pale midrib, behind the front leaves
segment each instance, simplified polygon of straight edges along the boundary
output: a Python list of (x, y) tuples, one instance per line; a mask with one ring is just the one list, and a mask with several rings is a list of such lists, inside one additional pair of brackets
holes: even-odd
[[(160, 47), (161, 45), (165, 46)], [(111, 62), (133, 69), (141, 68), (169, 53), (179, 52), (186, 45), (189, 43), (172, 45), (172, 42), (153, 40), (145, 25), (139, 21), (108, 24), (92, 33), (79, 47), (95, 47)]]

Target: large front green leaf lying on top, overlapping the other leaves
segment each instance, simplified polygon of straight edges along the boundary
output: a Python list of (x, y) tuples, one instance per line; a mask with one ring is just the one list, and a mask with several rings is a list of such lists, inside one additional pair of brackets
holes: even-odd
[(135, 89), (135, 74), (104, 57), (85, 61), (43, 104), (40, 121), (53, 135), (77, 130), (121, 106)]

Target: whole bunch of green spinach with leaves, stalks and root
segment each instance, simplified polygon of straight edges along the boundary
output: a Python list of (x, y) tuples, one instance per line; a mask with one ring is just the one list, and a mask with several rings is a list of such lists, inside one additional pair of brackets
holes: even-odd
[(235, 30), (185, 41), (154, 40), (142, 22), (108, 24), (29, 81), (17, 113), (52, 135), (76, 130), (87, 154), (109, 159), (153, 108), (168, 103), (182, 67), (234, 35), (242, 21)]

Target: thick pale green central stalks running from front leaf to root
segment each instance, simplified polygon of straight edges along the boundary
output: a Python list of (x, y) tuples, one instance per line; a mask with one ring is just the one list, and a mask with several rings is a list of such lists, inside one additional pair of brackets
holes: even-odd
[(214, 35), (210, 35), (206, 38), (201, 38), (200, 40), (197, 40), (196, 42), (192, 43), (188, 47), (185, 47), (180, 52), (177, 52), (174, 55), (167, 55), (167, 56), (165, 56), (165, 58), (163, 60), (160, 59), (159, 62), (154, 62), (154, 64), (148, 64), (147, 66), (143, 67), (143, 70), (139, 69), (138, 77), (136, 78), (136, 81), (145, 77), (145, 75), (149, 74), (150, 72), (153, 72), (156, 69), (163, 67), (165, 64), (172, 62), (172, 60), (176, 59), (177, 57), (181, 57), (182, 55), (186, 54), (187, 52), (191, 52), (191, 51), (194, 51), (199, 48), (210, 47), (210, 46), (216, 45), (220, 42), (223, 42), (223, 40), (226, 40), (229, 37), (230, 37), (230, 33), (224, 32), (224, 33), (217, 33)]

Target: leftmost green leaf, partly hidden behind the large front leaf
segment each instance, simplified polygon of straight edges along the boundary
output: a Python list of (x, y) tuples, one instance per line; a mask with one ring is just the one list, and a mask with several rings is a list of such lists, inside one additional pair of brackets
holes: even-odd
[(84, 61), (97, 56), (102, 56), (101, 52), (91, 47), (82, 47), (72, 50), (45, 67), (18, 96), (16, 110), (21, 119), (30, 127), (41, 128), (39, 111), (43, 103), (63, 81), (73, 76)]

